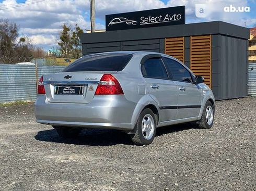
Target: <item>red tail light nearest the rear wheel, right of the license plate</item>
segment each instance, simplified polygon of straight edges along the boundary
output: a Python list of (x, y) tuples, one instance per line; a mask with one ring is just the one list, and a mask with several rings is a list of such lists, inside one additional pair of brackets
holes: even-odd
[(112, 74), (103, 74), (95, 92), (96, 95), (124, 94), (118, 80)]

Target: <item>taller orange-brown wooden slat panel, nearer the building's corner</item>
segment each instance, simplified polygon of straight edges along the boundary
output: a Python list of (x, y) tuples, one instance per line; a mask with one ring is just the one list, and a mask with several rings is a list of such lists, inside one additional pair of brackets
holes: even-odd
[(212, 85), (212, 36), (190, 37), (190, 68), (195, 75), (202, 75), (204, 83)]

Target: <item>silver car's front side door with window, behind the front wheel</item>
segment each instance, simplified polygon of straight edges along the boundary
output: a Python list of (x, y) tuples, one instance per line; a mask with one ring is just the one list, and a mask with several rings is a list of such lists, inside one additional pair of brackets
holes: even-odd
[(199, 116), (202, 89), (194, 83), (190, 71), (178, 61), (163, 57), (167, 70), (178, 89), (178, 113), (177, 119)]

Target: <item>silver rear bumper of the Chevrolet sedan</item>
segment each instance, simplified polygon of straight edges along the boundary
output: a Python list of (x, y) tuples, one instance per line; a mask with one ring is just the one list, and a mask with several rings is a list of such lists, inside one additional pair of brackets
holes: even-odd
[(135, 106), (124, 95), (99, 95), (88, 104), (50, 103), (45, 95), (38, 95), (34, 113), (42, 124), (129, 131), (134, 128)]

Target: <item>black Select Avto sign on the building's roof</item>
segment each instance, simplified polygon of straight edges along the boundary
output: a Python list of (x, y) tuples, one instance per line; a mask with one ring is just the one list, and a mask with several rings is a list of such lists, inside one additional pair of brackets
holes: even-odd
[(106, 15), (106, 31), (185, 24), (185, 6)]

